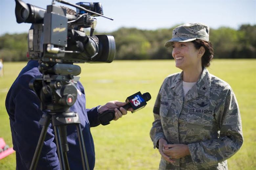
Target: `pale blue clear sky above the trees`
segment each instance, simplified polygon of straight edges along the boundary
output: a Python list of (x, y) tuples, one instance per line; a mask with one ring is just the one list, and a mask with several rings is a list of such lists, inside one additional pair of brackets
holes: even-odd
[[(46, 9), (52, 0), (23, 0)], [(217, 29), (238, 29), (242, 24), (256, 24), (256, 0), (66, 0), (100, 2), (105, 16), (96, 17), (98, 32), (112, 32), (120, 27), (155, 30), (185, 23), (204, 23)], [(56, 3), (56, 5), (63, 5)], [(67, 5), (64, 5), (67, 6)], [(70, 7), (70, 6), (67, 6)], [(70, 7), (75, 9), (74, 7)], [(28, 32), (31, 24), (16, 23), (15, 1), (0, 0), (0, 35)], [(171, 34), (171, 33), (170, 33)]]

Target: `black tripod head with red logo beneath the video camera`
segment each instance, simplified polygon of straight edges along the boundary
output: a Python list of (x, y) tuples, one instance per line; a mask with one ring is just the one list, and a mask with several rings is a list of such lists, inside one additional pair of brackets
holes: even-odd
[(29, 87), (41, 100), (41, 110), (66, 112), (77, 99), (76, 83), (81, 68), (78, 65), (40, 62), (43, 74), (32, 79)]

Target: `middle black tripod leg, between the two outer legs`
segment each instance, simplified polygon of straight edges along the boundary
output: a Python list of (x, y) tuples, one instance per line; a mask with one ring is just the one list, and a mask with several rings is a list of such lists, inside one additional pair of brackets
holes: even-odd
[(63, 156), (62, 147), (61, 147), (59, 128), (57, 126), (54, 126), (53, 129), (54, 129), (54, 134), (55, 134), (55, 139), (56, 139), (56, 145), (57, 145), (60, 169), (66, 170), (64, 156)]

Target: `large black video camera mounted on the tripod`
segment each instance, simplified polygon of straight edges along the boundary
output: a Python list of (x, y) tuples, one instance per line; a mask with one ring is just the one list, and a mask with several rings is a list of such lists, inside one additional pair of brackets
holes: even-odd
[[(32, 23), (28, 33), (29, 59), (48, 63), (110, 63), (115, 58), (114, 37), (93, 35), (97, 14), (80, 9), (77, 10), (79, 13), (70, 15), (65, 8), (53, 4), (45, 10), (21, 0), (15, 1), (17, 23)], [(103, 14), (100, 3), (77, 4)], [(86, 35), (84, 28), (89, 27), (91, 33)]]

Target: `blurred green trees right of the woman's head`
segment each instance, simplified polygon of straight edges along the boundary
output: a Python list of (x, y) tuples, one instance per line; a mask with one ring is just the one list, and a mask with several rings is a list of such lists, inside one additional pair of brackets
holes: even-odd
[(215, 58), (256, 58), (256, 25), (241, 25), (239, 30), (221, 27), (210, 31)]

